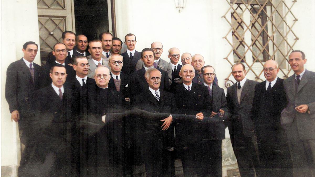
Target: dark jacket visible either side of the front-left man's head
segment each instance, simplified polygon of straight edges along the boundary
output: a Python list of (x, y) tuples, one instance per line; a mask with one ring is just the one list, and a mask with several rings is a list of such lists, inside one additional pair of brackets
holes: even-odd
[[(56, 64), (57, 63), (54, 61), (54, 63), (52, 63), (52, 64), (46, 63), (46, 65), (41, 67), (41, 80), (42, 80), (41, 88), (47, 87), (49, 84), (52, 83), (52, 80), (49, 76), (50, 68), (52, 66), (55, 66)], [(66, 67), (66, 73), (68, 74), (66, 77), (65, 86), (71, 87), (73, 78), (76, 76), (76, 72), (74, 71), (72, 66), (70, 66), (66, 63), (65, 63), (65, 67)]]

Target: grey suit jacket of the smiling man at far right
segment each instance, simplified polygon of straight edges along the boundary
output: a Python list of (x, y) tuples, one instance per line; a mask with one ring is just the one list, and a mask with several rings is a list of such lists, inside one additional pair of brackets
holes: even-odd
[[(291, 128), (297, 127), (301, 140), (315, 138), (315, 95), (312, 92), (315, 86), (315, 72), (306, 70), (300, 84), (295, 88), (295, 74), (284, 80), (284, 89), (288, 105), (281, 112), (281, 125), (289, 133)], [(296, 105), (306, 104), (310, 113), (301, 114), (294, 110)], [(296, 125), (293, 126), (293, 122)]]

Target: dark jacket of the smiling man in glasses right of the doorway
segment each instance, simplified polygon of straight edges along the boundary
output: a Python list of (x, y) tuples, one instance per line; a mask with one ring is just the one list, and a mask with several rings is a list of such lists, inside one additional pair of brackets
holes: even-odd
[(131, 73), (135, 72), (136, 63), (141, 58), (141, 53), (135, 51), (132, 60), (130, 60), (130, 54), (127, 54), (127, 51), (122, 53), (121, 56), (123, 56), (123, 68), (121, 71), (129, 76)]

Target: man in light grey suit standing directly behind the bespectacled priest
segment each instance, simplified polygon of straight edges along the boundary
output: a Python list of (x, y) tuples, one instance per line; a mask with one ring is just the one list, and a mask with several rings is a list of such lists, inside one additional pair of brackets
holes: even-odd
[(98, 39), (94, 39), (89, 42), (89, 53), (91, 54), (88, 56), (89, 61), (89, 78), (94, 78), (94, 71), (99, 66), (106, 66), (109, 71), (111, 71), (111, 68), (108, 66), (108, 59), (107, 61), (101, 57), (102, 55), (102, 43)]

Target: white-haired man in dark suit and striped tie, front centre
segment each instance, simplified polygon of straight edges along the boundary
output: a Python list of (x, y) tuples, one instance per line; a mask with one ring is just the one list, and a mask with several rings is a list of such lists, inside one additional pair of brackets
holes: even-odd
[[(161, 90), (161, 72), (155, 68), (145, 73), (148, 88), (135, 97), (134, 105), (141, 110), (153, 113), (173, 113), (176, 110), (174, 95)], [(146, 167), (146, 176), (174, 176), (174, 128), (172, 115), (158, 120), (143, 118), (139, 121), (143, 131), (140, 149)]]

